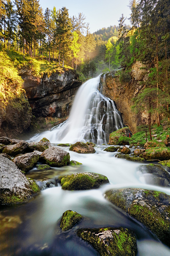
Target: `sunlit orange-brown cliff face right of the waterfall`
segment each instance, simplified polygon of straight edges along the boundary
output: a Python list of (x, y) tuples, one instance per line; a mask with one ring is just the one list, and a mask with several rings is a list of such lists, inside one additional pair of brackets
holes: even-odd
[[(122, 113), (123, 123), (129, 126), (130, 130), (137, 132), (137, 126), (147, 123), (148, 115), (146, 113), (134, 114), (131, 110), (132, 98), (145, 87), (141, 81), (146, 81), (148, 70), (141, 69), (144, 65), (137, 61), (131, 69), (131, 80), (128, 83), (121, 83), (119, 76), (115, 71), (109, 72), (101, 76), (102, 93), (115, 101), (117, 109)], [(105, 78), (105, 79), (104, 79)], [(152, 120), (154, 123), (155, 120)]]

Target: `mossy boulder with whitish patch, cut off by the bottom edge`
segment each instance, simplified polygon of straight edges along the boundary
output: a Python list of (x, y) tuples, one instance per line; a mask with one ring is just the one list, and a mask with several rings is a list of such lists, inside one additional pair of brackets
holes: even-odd
[(77, 235), (91, 244), (101, 256), (135, 256), (137, 241), (127, 228), (80, 228)]

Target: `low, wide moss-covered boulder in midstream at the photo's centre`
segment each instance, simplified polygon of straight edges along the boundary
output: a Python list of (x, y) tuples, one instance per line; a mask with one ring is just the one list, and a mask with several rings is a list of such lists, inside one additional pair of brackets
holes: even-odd
[(106, 176), (93, 172), (73, 173), (59, 177), (62, 189), (85, 190), (99, 188), (100, 185), (109, 183)]

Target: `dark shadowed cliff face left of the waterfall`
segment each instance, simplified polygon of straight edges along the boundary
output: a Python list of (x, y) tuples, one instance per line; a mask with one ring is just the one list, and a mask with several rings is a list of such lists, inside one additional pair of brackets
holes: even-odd
[(21, 74), (32, 113), (36, 117), (68, 116), (74, 96), (81, 83), (75, 70), (44, 74), (41, 79)]

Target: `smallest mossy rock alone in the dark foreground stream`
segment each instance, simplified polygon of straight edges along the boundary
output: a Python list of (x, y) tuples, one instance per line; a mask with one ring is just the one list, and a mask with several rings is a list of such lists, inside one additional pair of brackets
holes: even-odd
[(60, 220), (60, 228), (63, 231), (67, 231), (71, 228), (73, 228), (78, 222), (80, 222), (83, 219), (82, 215), (73, 212), (71, 210), (68, 210), (63, 213), (63, 216)]

